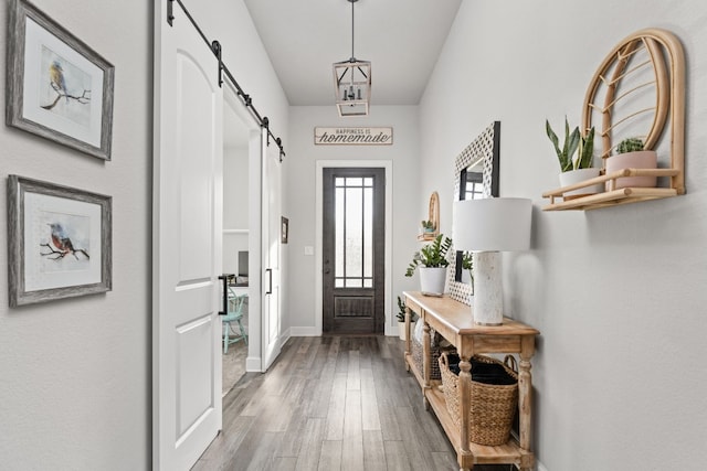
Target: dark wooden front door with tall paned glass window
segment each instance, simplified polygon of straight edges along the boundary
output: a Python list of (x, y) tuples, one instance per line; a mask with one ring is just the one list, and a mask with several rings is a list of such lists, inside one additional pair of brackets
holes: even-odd
[(325, 168), (323, 331), (382, 334), (386, 170)]

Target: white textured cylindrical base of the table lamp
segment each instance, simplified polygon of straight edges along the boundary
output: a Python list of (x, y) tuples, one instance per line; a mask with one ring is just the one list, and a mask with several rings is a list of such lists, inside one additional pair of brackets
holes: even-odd
[(474, 323), (504, 323), (504, 292), (500, 276), (500, 253), (475, 251), (474, 257)]

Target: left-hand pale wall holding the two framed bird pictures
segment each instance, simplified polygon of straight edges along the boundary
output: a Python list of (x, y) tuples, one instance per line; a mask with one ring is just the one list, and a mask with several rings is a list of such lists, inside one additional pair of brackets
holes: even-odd
[[(9, 309), (8, 275), (0, 270), (0, 468), (146, 470), (152, 415), (154, 4), (33, 3), (115, 65), (113, 160), (2, 127), (0, 226), (7, 226), (8, 174), (112, 195), (113, 291)], [(0, 8), (0, 64), (6, 63), (7, 4)], [(231, 72), (287, 146), (287, 101), (243, 2), (186, 4), (207, 34), (221, 41)], [(3, 72), (0, 88), (4, 81)], [(4, 104), (2, 94), (0, 108)], [(4, 229), (0, 240), (7, 244)], [(2, 248), (0, 266), (7, 261)]]

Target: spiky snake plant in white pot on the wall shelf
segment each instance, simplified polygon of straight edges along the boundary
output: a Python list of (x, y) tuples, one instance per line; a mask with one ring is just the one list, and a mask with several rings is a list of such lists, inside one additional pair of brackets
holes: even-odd
[[(545, 120), (545, 131), (555, 147), (555, 152), (560, 162), (560, 185), (569, 186), (580, 183), (594, 176), (599, 176), (600, 169), (593, 167), (594, 163), (594, 128), (592, 127), (587, 136), (582, 136), (579, 127), (570, 132), (570, 125), (564, 117), (564, 141), (560, 149), (559, 139), (550, 121)], [(601, 193), (603, 186), (601, 183), (591, 186), (584, 186), (578, 190), (568, 191), (563, 194), (564, 200), (585, 196), (588, 194)]]

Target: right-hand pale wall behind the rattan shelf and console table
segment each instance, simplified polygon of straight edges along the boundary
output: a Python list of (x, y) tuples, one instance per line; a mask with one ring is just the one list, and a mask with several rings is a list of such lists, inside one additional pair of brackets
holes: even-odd
[[(687, 469), (707, 436), (707, 8), (658, 2), (463, 2), (420, 106), (421, 191), (451, 225), (455, 156), (502, 122), (502, 196), (535, 202), (532, 249), (505, 256), (508, 314), (536, 328), (534, 441), (550, 471)], [(541, 212), (558, 186), (545, 119), (579, 124), (615, 43), (662, 26), (687, 56), (684, 196)], [(664, 151), (665, 146), (661, 149)]]

